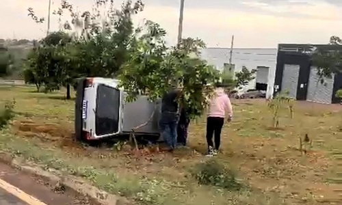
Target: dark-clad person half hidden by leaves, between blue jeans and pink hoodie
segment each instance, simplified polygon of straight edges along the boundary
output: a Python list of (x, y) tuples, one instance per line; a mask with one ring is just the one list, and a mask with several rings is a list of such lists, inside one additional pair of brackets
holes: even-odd
[(187, 146), (187, 128), (189, 127), (189, 123), (188, 111), (182, 107), (177, 126), (177, 143), (181, 146)]

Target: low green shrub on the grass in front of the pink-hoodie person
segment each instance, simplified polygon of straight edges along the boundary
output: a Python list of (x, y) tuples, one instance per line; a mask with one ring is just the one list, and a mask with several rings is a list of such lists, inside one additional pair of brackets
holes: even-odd
[(221, 187), (231, 191), (239, 191), (243, 184), (237, 181), (234, 172), (227, 169), (215, 159), (198, 163), (191, 172), (199, 184)]

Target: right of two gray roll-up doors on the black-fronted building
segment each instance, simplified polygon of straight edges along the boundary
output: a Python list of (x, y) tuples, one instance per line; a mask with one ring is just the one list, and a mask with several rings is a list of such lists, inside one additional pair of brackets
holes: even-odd
[(324, 78), (324, 83), (322, 84), (317, 75), (317, 68), (311, 67), (310, 75), (308, 77), (308, 94), (306, 100), (330, 104), (333, 87), (334, 77), (332, 77), (332, 79)]

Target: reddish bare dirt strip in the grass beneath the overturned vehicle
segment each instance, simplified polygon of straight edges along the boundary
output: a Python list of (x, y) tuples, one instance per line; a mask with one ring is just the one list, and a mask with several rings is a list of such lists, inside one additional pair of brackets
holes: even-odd
[[(174, 162), (187, 160), (196, 155), (190, 149), (176, 150), (174, 153), (168, 152), (168, 147), (161, 143), (157, 146), (139, 146), (140, 150), (133, 150), (135, 146), (124, 141), (123, 145), (116, 147), (111, 141), (103, 141), (96, 146), (86, 146), (75, 141), (73, 128), (70, 124), (37, 123), (33, 120), (18, 120), (13, 123), (13, 131), (16, 135), (27, 138), (39, 139), (44, 146), (51, 145), (62, 148), (66, 152), (82, 157), (98, 157), (102, 159), (127, 159), (127, 168), (138, 169), (151, 163), (163, 162), (163, 165), (172, 166)], [(198, 155), (198, 153), (197, 153)], [(123, 160), (125, 161), (125, 160)], [(148, 166), (150, 167), (150, 166)], [(144, 169), (148, 169), (144, 167)], [(153, 165), (152, 170), (155, 169)], [(154, 172), (155, 173), (155, 172)]]

